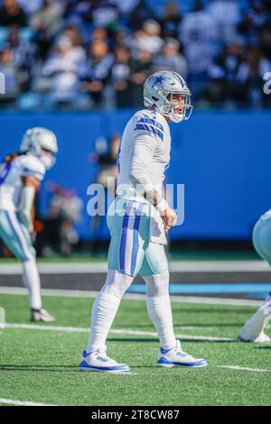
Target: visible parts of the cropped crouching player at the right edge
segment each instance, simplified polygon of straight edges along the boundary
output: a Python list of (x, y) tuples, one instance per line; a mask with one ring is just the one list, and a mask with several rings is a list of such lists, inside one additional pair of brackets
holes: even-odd
[[(252, 240), (257, 253), (271, 266), (271, 214), (261, 217), (253, 229)], [(269, 343), (270, 337), (264, 332), (271, 317), (271, 293), (257, 312), (246, 322), (239, 332), (239, 338), (256, 343)]]

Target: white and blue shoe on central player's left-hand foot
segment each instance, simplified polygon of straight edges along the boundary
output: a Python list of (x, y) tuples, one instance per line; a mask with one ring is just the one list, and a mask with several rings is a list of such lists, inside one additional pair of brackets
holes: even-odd
[(82, 361), (79, 364), (80, 371), (99, 371), (102, 373), (124, 373), (130, 371), (127, 364), (117, 364), (114, 359), (107, 356), (107, 346), (90, 352), (84, 350)]

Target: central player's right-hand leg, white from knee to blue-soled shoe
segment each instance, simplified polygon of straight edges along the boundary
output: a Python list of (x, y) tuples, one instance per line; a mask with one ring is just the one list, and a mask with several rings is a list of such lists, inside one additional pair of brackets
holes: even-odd
[(146, 303), (160, 341), (158, 366), (205, 366), (205, 359), (197, 359), (182, 351), (173, 330), (173, 316), (169, 296), (169, 272), (164, 245), (149, 243), (140, 274), (146, 283)]

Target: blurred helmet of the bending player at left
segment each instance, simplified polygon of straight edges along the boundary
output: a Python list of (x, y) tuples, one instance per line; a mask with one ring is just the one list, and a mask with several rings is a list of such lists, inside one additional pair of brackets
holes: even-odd
[(54, 154), (58, 152), (58, 143), (55, 134), (47, 128), (36, 126), (29, 128), (23, 134), (21, 152), (33, 154), (42, 161), (49, 170), (55, 163)]

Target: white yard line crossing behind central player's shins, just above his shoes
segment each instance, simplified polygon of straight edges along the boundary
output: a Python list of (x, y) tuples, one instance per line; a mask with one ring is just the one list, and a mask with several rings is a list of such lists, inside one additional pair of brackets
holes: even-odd
[[(86, 327), (58, 327), (58, 326), (40, 326), (38, 324), (5, 324), (5, 328), (12, 329), (23, 329), (23, 330), (42, 330), (42, 331), (63, 331), (67, 333), (89, 333), (89, 328)], [(112, 329), (111, 334), (118, 335), (129, 335), (129, 336), (154, 336), (157, 334), (152, 331), (136, 331), (129, 329)], [(188, 340), (208, 340), (208, 341), (223, 341), (223, 342), (235, 342), (235, 339), (229, 337), (213, 337), (213, 336), (190, 336), (186, 334), (176, 335), (178, 338), (185, 338)]]

